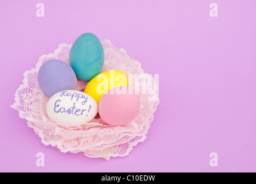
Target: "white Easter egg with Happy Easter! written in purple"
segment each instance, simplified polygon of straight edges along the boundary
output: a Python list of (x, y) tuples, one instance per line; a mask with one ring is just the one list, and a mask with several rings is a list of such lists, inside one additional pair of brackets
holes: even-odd
[(64, 90), (54, 94), (47, 102), (49, 118), (60, 125), (80, 125), (91, 121), (98, 113), (98, 104), (88, 94)]

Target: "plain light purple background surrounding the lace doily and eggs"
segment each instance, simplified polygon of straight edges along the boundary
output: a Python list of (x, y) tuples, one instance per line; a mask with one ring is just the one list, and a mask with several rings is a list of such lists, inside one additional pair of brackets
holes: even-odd
[[(36, 17), (44, 3), (45, 17)], [(1, 1), (0, 171), (255, 172), (256, 1)], [(218, 17), (210, 17), (210, 3)], [(159, 74), (147, 139), (104, 159), (43, 145), (10, 108), (23, 72), (84, 32), (109, 39)], [(45, 166), (36, 166), (43, 152)], [(218, 167), (209, 155), (218, 154)]]

